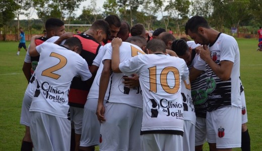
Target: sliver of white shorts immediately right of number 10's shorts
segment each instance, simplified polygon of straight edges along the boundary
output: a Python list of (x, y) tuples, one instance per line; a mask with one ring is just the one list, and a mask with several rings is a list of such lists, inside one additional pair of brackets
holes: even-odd
[(184, 120), (183, 150), (194, 150), (195, 127), (188, 121)]

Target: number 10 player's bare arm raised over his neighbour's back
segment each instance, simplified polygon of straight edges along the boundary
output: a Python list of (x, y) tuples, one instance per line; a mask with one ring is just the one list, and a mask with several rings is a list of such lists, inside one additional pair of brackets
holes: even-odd
[(120, 59), (119, 59), (119, 47), (122, 44), (121, 38), (114, 38), (111, 42), (113, 51), (112, 51), (112, 64), (111, 68), (115, 73), (121, 73), (119, 69)]

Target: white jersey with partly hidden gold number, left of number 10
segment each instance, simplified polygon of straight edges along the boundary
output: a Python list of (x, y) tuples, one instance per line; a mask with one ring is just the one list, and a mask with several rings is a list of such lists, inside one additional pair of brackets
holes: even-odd
[[(133, 56), (136, 56), (138, 54), (145, 54), (145, 52), (138, 47), (137, 45), (130, 44), (128, 42), (122, 42), (120, 48), (119, 48), (119, 57), (120, 62), (123, 62), (125, 60), (128, 60), (129, 58), (132, 58)], [(112, 46), (109, 45), (106, 49), (105, 56), (103, 60), (111, 59), (112, 56)], [(141, 95), (141, 88), (136, 87), (133, 89), (129, 89), (124, 86), (122, 83), (123, 76), (127, 76), (130, 74), (124, 74), (124, 73), (112, 73), (110, 75), (110, 81), (109, 81), (109, 97), (108, 102), (111, 103), (123, 103), (128, 104), (133, 107), (142, 108), (143, 107), (143, 101), (142, 101), (142, 95)], [(121, 96), (121, 97), (119, 97)]]

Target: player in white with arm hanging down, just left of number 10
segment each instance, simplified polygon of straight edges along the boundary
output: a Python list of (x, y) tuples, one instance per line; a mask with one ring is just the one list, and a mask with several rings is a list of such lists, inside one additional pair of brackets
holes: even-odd
[[(138, 54), (145, 54), (141, 49), (146, 46), (144, 37), (129, 37), (126, 41), (120, 52), (121, 61)], [(122, 81), (126, 75), (111, 73), (111, 54), (112, 46), (109, 46), (103, 58), (104, 67), (100, 78), (96, 112), (99, 121), (102, 122), (100, 128), (102, 142), (99, 148), (100, 150), (141, 150), (139, 139), (143, 106), (141, 89), (125, 87)], [(104, 106), (108, 85), (110, 93)]]

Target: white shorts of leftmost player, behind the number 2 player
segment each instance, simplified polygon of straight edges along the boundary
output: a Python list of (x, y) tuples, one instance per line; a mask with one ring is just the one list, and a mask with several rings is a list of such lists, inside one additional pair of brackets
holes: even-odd
[(32, 103), (32, 97), (25, 93), (21, 109), (20, 124), (30, 126), (30, 106)]

